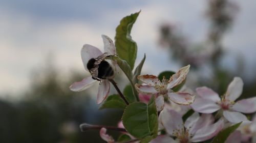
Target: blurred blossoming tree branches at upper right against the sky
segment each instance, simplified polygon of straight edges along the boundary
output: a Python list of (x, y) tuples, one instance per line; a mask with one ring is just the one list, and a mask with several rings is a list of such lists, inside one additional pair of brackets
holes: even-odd
[[(191, 44), (180, 34), (176, 26), (163, 24), (160, 28), (160, 43), (167, 45), (171, 49), (172, 57), (182, 65), (190, 64), (194, 68), (194, 73), (200, 75), (196, 81), (198, 86), (207, 85), (220, 93), (225, 93), (226, 85), (234, 74), (239, 73), (230, 73), (227, 69), (221, 68), (220, 60), (224, 56), (222, 39), (232, 25), (238, 7), (228, 0), (207, 2), (206, 18), (210, 21), (207, 39), (201, 43)], [(208, 70), (205, 70), (205, 67)]]

